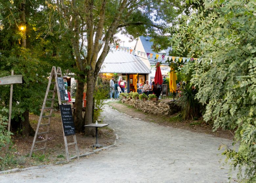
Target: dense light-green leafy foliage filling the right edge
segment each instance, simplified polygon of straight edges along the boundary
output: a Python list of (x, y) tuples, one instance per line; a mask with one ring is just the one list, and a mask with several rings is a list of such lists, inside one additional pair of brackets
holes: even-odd
[[(233, 129), (236, 151), (224, 154), (243, 182), (256, 182), (256, 5), (254, 1), (205, 1), (173, 35), (176, 54), (200, 58), (187, 64), (197, 99), (206, 104), (205, 121)], [(207, 16), (205, 16), (205, 14)], [(242, 167), (245, 178), (242, 179)]]

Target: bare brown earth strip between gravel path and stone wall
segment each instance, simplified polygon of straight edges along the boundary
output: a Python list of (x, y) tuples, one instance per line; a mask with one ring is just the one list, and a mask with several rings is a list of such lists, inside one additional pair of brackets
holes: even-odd
[[(163, 99), (161, 101), (170, 101), (170, 99)], [(180, 117), (177, 117), (177, 114), (170, 116), (160, 116), (143, 113), (142, 111), (133, 108), (132, 106), (128, 106), (126, 104), (121, 103), (121, 101), (113, 101), (108, 103), (109, 106), (118, 110), (119, 112), (125, 113), (134, 118), (139, 118), (143, 121), (157, 123), (159, 125), (171, 126), (173, 128), (185, 129), (197, 133), (204, 133), (213, 135), (215, 137), (221, 137), (224, 139), (233, 139), (233, 132), (230, 130), (222, 130), (218, 129), (217, 131), (212, 131), (212, 124), (207, 124), (203, 121), (203, 119), (199, 120), (182, 120)]]

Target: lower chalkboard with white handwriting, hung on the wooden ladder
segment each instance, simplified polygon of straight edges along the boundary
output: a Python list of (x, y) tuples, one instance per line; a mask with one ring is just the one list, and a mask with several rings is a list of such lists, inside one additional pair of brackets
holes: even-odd
[(71, 105), (59, 105), (59, 109), (65, 136), (75, 135), (75, 124)]

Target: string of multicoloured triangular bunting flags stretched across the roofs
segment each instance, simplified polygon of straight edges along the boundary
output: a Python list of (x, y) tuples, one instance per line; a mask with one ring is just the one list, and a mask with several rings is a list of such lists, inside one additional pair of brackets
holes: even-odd
[[(99, 44), (105, 44), (104, 41), (99, 40)], [(153, 53), (146, 53), (146, 52), (141, 52), (141, 51), (137, 51), (137, 50), (133, 50), (124, 46), (119, 46), (116, 44), (112, 44), (109, 43), (109, 47), (113, 46), (114, 48), (116, 48), (116, 50), (118, 51), (125, 51), (127, 53), (133, 54), (133, 55), (137, 55), (137, 56), (141, 56), (141, 57), (145, 57), (147, 56), (147, 58), (151, 59), (156, 58), (156, 60), (164, 60), (164, 59), (169, 59), (170, 61), (172, 60), (173, 62), (181, 62), (181, 60), (183, 60), (183, 62), (189, 62), (189, 61), (201, 61), (198, 58), (189, 58), (189, 57), (173, 57), (173, 56), (167, 56), (167, 55), (160, 55), (160, 54), (153, 54)], [(136, 54), (137, 53), (137, 54)]]

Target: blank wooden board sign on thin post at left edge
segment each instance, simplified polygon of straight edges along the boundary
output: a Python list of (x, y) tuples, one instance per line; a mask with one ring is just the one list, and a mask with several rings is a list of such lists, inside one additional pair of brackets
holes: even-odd
[(11, 70), (11, 75), (6, 77), (0, 77), (0, 85), (11, 85), (8, 131), (11, 130), (12, 88), (13, 88), (13, 84), (19, 84), (19, 83), (22, 83), (22, 75), (13, 75), (13, 70)]

